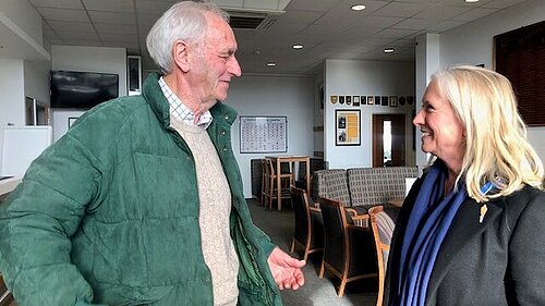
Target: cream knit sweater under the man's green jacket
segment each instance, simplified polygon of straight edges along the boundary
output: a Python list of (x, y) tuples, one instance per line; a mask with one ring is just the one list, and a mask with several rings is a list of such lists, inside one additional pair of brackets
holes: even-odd
[(218, 152), (205, 128), (177, 120), (172, 120), (171, 125), (185, 140), (195, 159), (202, 248), (211, 273), (214, 305), (235, 306), (239, 258), (229, 232), (231, 192)]

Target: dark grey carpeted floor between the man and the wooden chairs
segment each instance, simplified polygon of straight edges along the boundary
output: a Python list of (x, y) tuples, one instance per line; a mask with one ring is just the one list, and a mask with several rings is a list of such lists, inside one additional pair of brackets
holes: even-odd
[[(249, 199), (247, 203), (254, 223), (266, 232), (275, 244), (283, 250), (289, 252), (294, 225), (293, 210), (289, 207), (282, 211), (268, 210), (259, 206), (259, 201), (256, 199)], [(338, 279), (328, 273), (326, 273), (324, 279), (318, 279), (322, 255), (311, 255), (304, 268), (305, 285), (298, 291), (284, 290), (281, 292), (286, 306), (376, 305), (375, 280), (371, 280), (371, 284), (368, 281), (349, 283), (347, 284), (344, 296), (339, 297), (336, 291), (336, 286), (339, 283)]]

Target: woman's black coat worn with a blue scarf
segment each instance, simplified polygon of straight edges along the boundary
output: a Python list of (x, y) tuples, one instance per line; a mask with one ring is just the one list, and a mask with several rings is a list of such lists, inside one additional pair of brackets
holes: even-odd
[[(384, 305), (393, 305), (403, 233), (422, 179), (414, 183), (396, 223)], [(481, 205), (465, 199), (437, 254), (426, 305), (545, 305), (545, 192), (524, 186)]]

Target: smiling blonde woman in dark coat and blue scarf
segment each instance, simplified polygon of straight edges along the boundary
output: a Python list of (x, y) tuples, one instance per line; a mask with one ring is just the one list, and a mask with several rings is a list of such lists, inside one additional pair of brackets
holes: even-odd
[(439, 71), (413, 124), (432, 159), (396, 224), (385, 305), (545, 305), (543, 163), (509, 81)]

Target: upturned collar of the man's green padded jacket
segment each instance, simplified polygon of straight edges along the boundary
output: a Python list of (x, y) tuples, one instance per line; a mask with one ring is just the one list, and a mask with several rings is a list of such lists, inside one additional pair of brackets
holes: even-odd
[[(157, 73), (150, 73), (147, 79), (144, 82), (142, 95), (149, 103), (149, 107), (154, 111), (157, 119), (162, 123), (166, 130), (171, 130), (170, 127), (170, 106), (165, 95), (162, 94), (161, 87), (159, 86), (160, 75)], [(220, 125), (232, 125), (234, 119), (237, 118), (237, 111), (218, 101), (211, 109), (210, 113), (214, 117), (214, 121)], [(219, 122), (218, 122), (219, 121)]]

